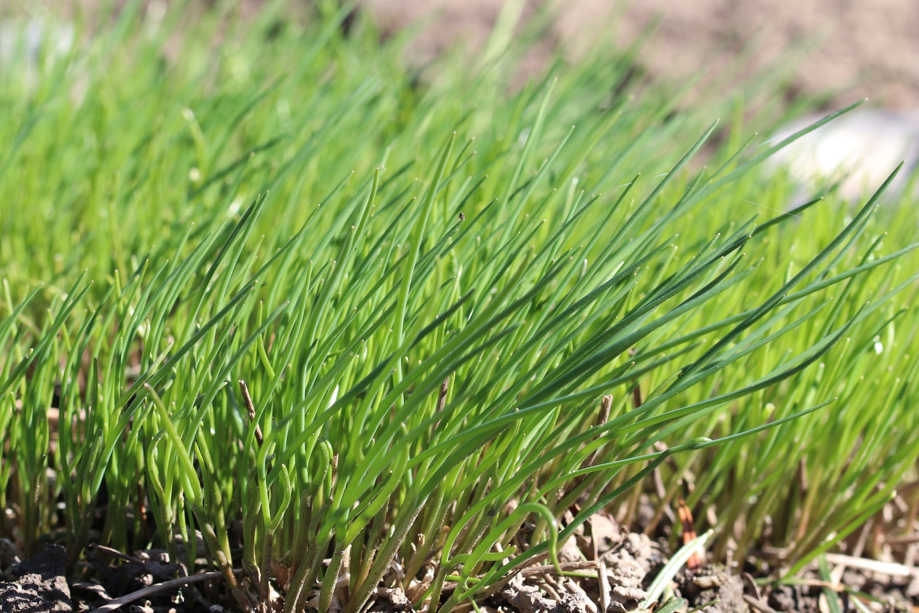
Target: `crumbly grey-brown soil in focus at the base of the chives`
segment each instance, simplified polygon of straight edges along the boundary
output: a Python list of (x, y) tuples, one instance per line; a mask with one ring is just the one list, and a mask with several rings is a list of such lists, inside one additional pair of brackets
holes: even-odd
[[(124, 609), (143, 613), (221, 613), (238, 608), (222, 589), (219, 573), (196, 576), (196, 579), (209, 580), (196, 585), (178, 585), (172, 577), (179, 565), (169, 561), (164, 551), (125, 554), (106, 548), (94, 549), (96, 551), (87, 556), (80, 580), (70, 584), (64, 576), (66, 552), (59, 545), (49, 545), (26, 562), (14, 563), (8, 569), (0, 568), (0, 578), (7, 578), (0, 581), (0, 613), (89, 611), (107, 603), (108, 610), (113, 610), (118, 603), (124, 605)], [(562, 569), (570, 574), (559, 576), (547, 561), (534, 561), (485, 599), (480, 608), (484, 613), (634, 611), (648, 596), (654, 577), (664, 568), (666, 553), (664, 539), (655, 540), (621, 530), (612, 517), (598, 515), (579, 529), (560, 552)], [(844, 613), (865, 609), (877, 613), (919, 610), (919, 573), (914, 567), (894, 568), (894, 575), (907, 568), (907, 574), (898, 577), (860, 567), (867, 564), (883, 570), (883, 565), (877, 562), (846, 556), (834, 556), (829, 560), (833, 581), (820, 580), (816, 570), (811, 569), (801, 575), (797, 585), (768, 582), (759, 585), (762, 582), (757, 582), (751, 573), (741, 575), (723, 565), (698, 561), (696, 568), (685, 566), (676, 574), (670, 586), (671, 594), (685, 599), (676, 609), (682, 613), (698, 607), (709, 613), (825, 613), (834, 610), (828, 605), (828, 596), (834, 597), (838, 610)], [(762, 566), (754, 562), (747, 564), (748, 570)], [(398, 568), (398, 563), (393, 564), (392, 576), (384, 577), (365, 611), (414, 611), (410, 598), (400, 586), (395, 570)], [(429, 578), (413, 582), (408, 589), (409, 595), (423, 593), (428, 582)], [(165, 589), (156, 589), (158, 586)], [(444, 598), (453, 589), (454, 585), (445, 585)], [(124, 593), (136, 597), (113, 600), (113, 596), (124, 596)], [(864, 609), (857, 606), (856, 599)], [(278, 600), (276, 596), (276, 603)], [(335, 596), (332, 613), (345, 601), (345, 594)], [(657, 606), (662, 604), (658, 602)]]

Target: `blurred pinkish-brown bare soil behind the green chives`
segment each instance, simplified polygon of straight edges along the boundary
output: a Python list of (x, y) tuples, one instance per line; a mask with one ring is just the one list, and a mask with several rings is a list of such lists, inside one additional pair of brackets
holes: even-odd
[[(532, 6), (538, 0), (528, 0)], [(366, 0), (385, 28), (430, 20), (416, 45), (427, 55), (484, 39), (501, 0)], [(639, 56), (651, 76), (685, 80), (700, 69), (753, 74), (797, 45), (790, 86), (829, 93), (831, 105), (868, 96), (871, 106), (919, 107), (919, 0), (559, 0), (554, 35), (573, 52), (594, 37), (623, 45), (655, 19)], [(607, 27), (603, 27), (607, 26)]]

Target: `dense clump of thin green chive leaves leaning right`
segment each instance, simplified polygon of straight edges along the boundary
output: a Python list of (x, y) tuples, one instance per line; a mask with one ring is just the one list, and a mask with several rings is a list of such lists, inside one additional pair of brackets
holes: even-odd
[(347, 6), (190, 10), (77, 16), (38, 78), (0, 74), (0, 502), (25, 550), (162, 546), (286, 611), (344, 576), (347, 613), (398, 561), (448, 611), (629, 517), (652, 471), (662, 505), (693, 475), (716, 551), (803, 563), (914, 466), (906, 224), (885, 186), (783, 213), (760, 165), (834, 115), (757, 146), (630, 84), (634, 50), (507, 85), (539, 19), (419, 69)]

